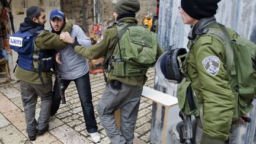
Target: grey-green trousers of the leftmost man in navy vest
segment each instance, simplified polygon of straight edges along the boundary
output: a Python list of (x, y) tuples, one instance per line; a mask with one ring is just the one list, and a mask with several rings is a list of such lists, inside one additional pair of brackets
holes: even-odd
[[(31, 84), (20, 81), (21, 98), (23, 101), (25, 122), (27, 133), (30, 136), (36, 134), (37, 126), (39, 130), (49, 126), (50, 105), (52, 104), (52, 81), (47, 84)], [(37, 98), (41, 98), (39, 119), (35, 119)]]

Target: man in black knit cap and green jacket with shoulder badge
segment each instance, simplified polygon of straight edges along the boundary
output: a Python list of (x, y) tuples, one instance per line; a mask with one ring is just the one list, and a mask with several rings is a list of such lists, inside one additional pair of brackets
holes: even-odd
[[(221, 28), (214, 15), (220, 0), (181, 0), (180, 13), (184, 24), (191, 25), (188, 34), (187, 76), (199, 107), (196, 112), (196, 143), (223, 144), (228, 142), (233, 120), (235, 96), (226, 71), (226, 52), (223, 41), (213, 34), (204, 34), (206, 28)], [(238, 37), (226, 28), (231, 38)], [(232, 140), (229, 140), (231, 143)]]

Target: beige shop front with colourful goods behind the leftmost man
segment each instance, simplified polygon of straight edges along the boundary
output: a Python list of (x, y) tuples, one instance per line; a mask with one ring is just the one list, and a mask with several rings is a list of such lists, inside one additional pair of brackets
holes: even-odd
[(50, 27), (49, 15), (52, 9), (60, 9), (60, 0), (2, 0), (0, 1), (0, 85), (17, 81), (14, 68), (18, 55), (9, 48), (9, 36), (18, 31), (23, 23), (27, 8), (39, 6), (46, 11), (45, 28)]

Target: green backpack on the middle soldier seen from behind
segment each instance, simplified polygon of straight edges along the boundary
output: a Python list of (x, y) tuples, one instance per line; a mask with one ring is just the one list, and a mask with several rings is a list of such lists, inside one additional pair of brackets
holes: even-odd
[(110, 68), (114, 76), (145, 75), (156, 62), (157, 34), (142, 25), (117, 26), (118, 42), (110, 56)]

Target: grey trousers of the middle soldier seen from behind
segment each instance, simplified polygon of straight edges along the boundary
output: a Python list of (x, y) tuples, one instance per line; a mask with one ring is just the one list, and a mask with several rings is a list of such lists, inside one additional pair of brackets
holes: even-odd
[[(113, 85), (108, 84), (103, 96), (98, 101), (98, 115), (111, 143), (133, 143), (142, 88), (121, 84), (121, 89), (115, 89)], [(114, 119), (114, 111), (118, 109), (121, 110), (120, 130)]]

